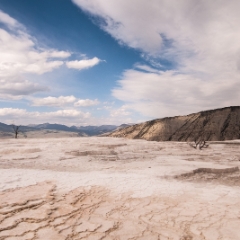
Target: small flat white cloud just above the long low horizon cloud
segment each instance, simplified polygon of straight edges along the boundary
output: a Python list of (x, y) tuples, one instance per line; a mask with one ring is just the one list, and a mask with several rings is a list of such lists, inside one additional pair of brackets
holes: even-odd
[(62, 107), (74, 103), (77, 99), (74, 96), (35, 98), (32, 100), (33, 106)]

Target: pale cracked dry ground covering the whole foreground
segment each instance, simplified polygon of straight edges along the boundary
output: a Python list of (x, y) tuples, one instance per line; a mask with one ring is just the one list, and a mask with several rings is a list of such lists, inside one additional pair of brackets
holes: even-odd
[(195, 150), (116, 138), (2, 139), (0, 240), (239, 240), (239, 150), (240, 141)]

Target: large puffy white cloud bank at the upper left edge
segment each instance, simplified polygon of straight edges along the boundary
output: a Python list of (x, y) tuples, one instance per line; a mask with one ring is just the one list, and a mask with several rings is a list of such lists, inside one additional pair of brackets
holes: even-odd
[(0, 23), (0, 98), (47, 91), (48, 87), (30, 81), (26, 75), (53, 71), (71, 53), (40, 48), (23, 25), (1, 10)]

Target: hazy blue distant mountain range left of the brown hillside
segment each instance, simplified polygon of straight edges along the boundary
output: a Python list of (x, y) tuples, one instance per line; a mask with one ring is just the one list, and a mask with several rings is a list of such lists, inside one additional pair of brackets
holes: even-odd
[[(120, 126), (116, 125), (102, 125), (102, 126), (81, 126), (81, 127), (68, 127), (62, 124), (30, 124), (28, 126), (21, 126), (20, 132), (27, 134), (30, 131), (42, 131), (42, 130), (53, 130), (61, 132), (73, 132), (78, 133), (78, 136), (97, 136), (104, 133), (112, 132), (116, 129), (121, 129), (123, 127), (128, 127), (130, 124), (122, 124)], [(13, 133), (12, 125), (7, 125), (0, 123), (0, 137), (9, 137)]]

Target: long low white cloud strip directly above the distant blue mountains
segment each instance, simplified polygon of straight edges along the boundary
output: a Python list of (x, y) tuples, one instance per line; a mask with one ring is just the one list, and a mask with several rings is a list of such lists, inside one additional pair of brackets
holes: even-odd
[(75, 109), (58, 110), (54, 112), (30, 112), (19, 108), (0, 108), (0, 117), (2, 122), (8, 124), (30, 124), (30, 123), (62, 123), (67, 125), (85, 122), (91, 117), (90, 113), (81, 112)]

